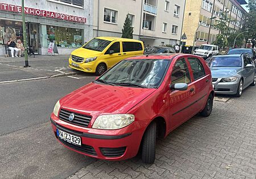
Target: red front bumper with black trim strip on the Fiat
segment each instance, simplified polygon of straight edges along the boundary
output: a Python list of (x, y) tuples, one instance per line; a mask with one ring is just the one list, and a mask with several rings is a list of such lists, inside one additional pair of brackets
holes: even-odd
[[(143, 136), (138, 123), (124, 127), (126, 130), (99, 130), (72, 125), (51, 114), (52, 130), (63, 146), (86, 156), (104, 160), (125, 160), (137, 155)], [(76, 130), (74, 130), (76, 128)], [(57, 137), (56, 129), (81, 137), (82, 146), (65, 142)], [(117, 132), (118, 131), (118, 132)], [(123, 133), (121, 132), (123, 131)], [(102, 134), (104, 133), (104, 134)]]

